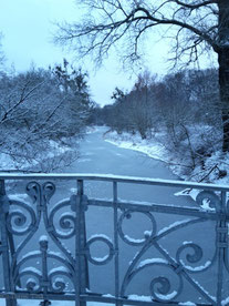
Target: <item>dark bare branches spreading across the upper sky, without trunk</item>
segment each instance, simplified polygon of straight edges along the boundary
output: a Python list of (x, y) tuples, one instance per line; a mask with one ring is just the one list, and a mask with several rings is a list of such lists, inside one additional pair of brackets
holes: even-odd
[[(119, 45), (124, 58), (138, 59), (138, 40), (149, 29), (171, 26), (177, 37), (184, 35), (194, 61), (201, 54), (201, 45), (218, 50), (217, 18), (218, 1), (84, 1), (91, 13), (100, 16), (85, 18), (82, 23), (59, 24), (58, 43), (70, 42), (79, 55), (93, 55), (101, 63), (114, 45)], [(211, 24), (210, 24), (211, 23)], [(184, 31), (180, 31), (183, 29)], [(175, 35), (176, 37), (176, 35)], [(180, 44), (176, 45), (180, 48)], [(121, 44), (119, 44), (121, 43)], [(195, 52), (194, 52), (195, 50)], [(125, 53), (124, 53), (125, 52)], [(178, 54), (178, 52), (175, 52)], [(195, 57), (192, 54), (196, 53)], [(181, 52), (179, 52), (181, 55)]]

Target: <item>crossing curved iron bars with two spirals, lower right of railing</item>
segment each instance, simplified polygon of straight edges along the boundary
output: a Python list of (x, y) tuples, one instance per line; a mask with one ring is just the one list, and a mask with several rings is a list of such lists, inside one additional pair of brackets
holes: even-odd
[[(211, 297), (205, 293), (205, 289), (197, 285), (195, 283), (195, 279), (190, 278), (187, 273), (196, 273), (196, 272), (204, 272), (208, 269), (212, 263), (216, 261), (217, 254), (214, 255), (212, 261), (206, 262), (201, 266), (192, 267), (188, 266), (184, 263), (181, 259), (181, 254), (185, 253), (185, 251), (189, 251), (189, 253), (186, 255), (186, 261), (189, 264), (197, 264), (199, 263), (204, 257), (202, 248), (194, 243), (184, 243), (183, 246), (180, 246), (176, 254), (176, 259), (173, 258), (169, 253), (158, 244), (158, 241), (166, 235), (176, 232), (177, 230), (180, 230), (185, 226), (192, 225), (195, 223), (205, 222), (206, 220), (202, 218), (189, 218), (184, 220), (180, 222), (175, 222), (174, 224), (167, 226), (164, 230), (160, 230), (157, 235), (153, 236), (150, 235), (149, 239), (145, 242), (145, 244), (142, 246), (142, 249), (139, 249), (134, 259), (131, 262), (129, 267), (126, 271), (126, 274), (124, 276), (124, 280), (121, 288), (121, 294), (125, 295), (125, 292), (133, 280), (133, 278), (139, 274), (140, 271), (149, 268), (150, 266), (160, 266), (164, 268), (167, 268), (167, 271), (170, 271), (170, 273), (175, 274), (179, 282), (178, 282), (178, 288), (175, 290), (171, 289), (173, 282), (169, 280), (168, 276), (158, 276), (154, 277), (154, 279), (150, 282), (149, 290), (152, 294), (152, 298), (157, 302), (173, 302), (175, 300), (180, 293), (183, 292), (184, 282), (183, 277), (185, 276), (187, 279), (189, 279), (189, 283), (194, 285), (199, 293), (205, 296), (208, 300), (212, 302)], [(140, 258), (144, 254), (146, 254), (146, 251), (149, 249), (149, 247), (154, 246), (165, 258), (149, 258), (140, 262)]]

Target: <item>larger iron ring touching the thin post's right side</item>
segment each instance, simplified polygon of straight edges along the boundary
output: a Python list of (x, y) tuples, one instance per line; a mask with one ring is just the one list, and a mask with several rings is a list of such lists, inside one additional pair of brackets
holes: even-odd
[[(124, 220), (132, 218), (132, 214), (134, 214), (134, 213), (144, 214), (145, 216), (147, 216), (147, 218), (152, 223), (152, 231), (146, 231), (144, 233), (144, 238), (142, 238), (142, 239), (132, 238), (128, 235), (125, 235), (124, 232), (123, 232), (123, 222), (124, 222)], [(127, 210), (121, 215), (118, 224), (117, 224), (117, 228), (118, 228), (119, 236), (124, 242), (126, 242), (129, 245), (140, 246), (140, 245), (144, 245), (149, 238), (155, 236), (155, 234), (156, 234), (156, 221), (155, 221), (154, 216), (148, 212), (138, 212), (138, 211)]]

